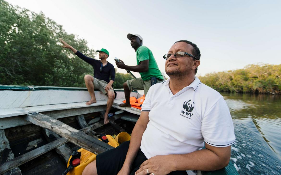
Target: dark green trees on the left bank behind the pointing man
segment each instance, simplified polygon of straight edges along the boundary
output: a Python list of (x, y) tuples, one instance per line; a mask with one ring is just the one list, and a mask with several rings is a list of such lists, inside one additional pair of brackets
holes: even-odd
[[(0, 0), (0, 26), (0, 84), (85, 87), (84, 76), (93, 75), (92, 66), (61, 47), (58, 39), (89, 57), (96, 52), (43, 13)], [(116, 73), (114, 88), (123, 88), (129, 79), (129, 74)]]

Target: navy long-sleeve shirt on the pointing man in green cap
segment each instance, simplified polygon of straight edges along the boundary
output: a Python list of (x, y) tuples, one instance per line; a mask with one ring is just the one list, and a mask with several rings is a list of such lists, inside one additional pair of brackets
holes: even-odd
[[(104, 80), (109, 83), (110, 80), (115, 79), (115, 69), (112, 64), (107, 62), (105, 66), (102, 67), (101, 71), (100, 68), (102, 66), (102, 63), (100, 60), (96, 60), (93, 58), (89, 58), (85, 55), (83, 55), (81, 52), (77, 51), (75, 53), (79, 58), (83, 59), (87, 63), (93, 66), (94, 68), (94, 78), (99, 79), (99, 80)], [(110, 78), (109, 78), (110, 77)]]

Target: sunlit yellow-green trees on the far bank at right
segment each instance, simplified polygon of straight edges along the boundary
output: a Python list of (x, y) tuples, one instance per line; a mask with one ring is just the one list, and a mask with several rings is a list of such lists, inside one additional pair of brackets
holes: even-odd
[(259, 64), (198, 78), (217, 91), (281, 94), (280, 76), (281, 65)]

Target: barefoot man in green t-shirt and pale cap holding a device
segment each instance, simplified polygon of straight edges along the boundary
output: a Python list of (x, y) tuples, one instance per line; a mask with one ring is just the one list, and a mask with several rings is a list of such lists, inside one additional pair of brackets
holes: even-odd
[(119, 106), (121, 107), (131, 107), (130, 93), (132, 90), (144, 90), (144, 95), (146, 95), (150, 86), (163, 81), (163, 75), (158, 68), (151, 50), (142, 45), (142, 37), (139, 34), (129, 33), (127, 38), (131, 40), (131, 46), (136, 51), (137, 66), (127, 66), (122, 60), (120, 60), (121, 63), (116, 62), (116, 65), (121, 69), (139, 72), (141, 78), (124, 82), (123, 87), (126, 103), (120, 104)]

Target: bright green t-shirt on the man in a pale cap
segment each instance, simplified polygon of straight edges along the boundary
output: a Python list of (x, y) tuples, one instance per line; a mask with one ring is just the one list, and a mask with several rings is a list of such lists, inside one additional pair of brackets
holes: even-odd
[(140, 61), (149, 59), (148, 71), (140, 72), (140, 76), (144, 81), (150, 80), (150, 77), (156, 77), (160, 80), (163, 80), (163, 75), (161, 74), (150, 49), (148, 49), (146, 46), (140, 46), (137, 49), (136, 56), (137, 65), (139, 65)]

